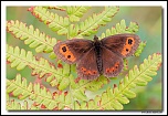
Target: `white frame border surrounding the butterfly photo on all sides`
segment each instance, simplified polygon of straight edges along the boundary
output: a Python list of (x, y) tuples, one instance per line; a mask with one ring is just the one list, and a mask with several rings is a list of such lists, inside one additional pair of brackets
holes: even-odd
[[(153, 6), (161, 6), (164, 8), (164, 113), (167, 114), (167, 1), (1, 1), (1, 114), (12, 114), (12, 115), (38, 115), (38, 114), (81, 114), (82, 112), (7, 112), (6, 110), (6, 7), (9, 6), (129, 6), (129, 7), (153, 7)], [(84, 112), (84, 114), (114, 114), (114, 115), (122, 115), (122, 114), (140, 114), (136, 112)], [(149, 113), (150, 114), (150, 113)], [(153, 113), (153, 115), (158, 115), (159, 113)]]

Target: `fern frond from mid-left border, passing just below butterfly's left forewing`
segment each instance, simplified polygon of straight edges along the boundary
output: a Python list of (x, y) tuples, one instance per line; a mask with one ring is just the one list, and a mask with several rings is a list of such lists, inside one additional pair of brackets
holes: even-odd
[(18, 46), (12, 48), (7, 45), (7, 60), (11, 63), (11, 67), (23, 70), (29, 66), (33, 70), (32, 75), (38, 75), (40, 78), (46, 76), (46, 82), (51, 86), (57, 86), (59, 89), (64, 89), (69, 84), (70, 65), (65, 64), (63, 68), (55, 68), (48, 60), (40, 57), (36, 60), (32, 52), (25, 52)]

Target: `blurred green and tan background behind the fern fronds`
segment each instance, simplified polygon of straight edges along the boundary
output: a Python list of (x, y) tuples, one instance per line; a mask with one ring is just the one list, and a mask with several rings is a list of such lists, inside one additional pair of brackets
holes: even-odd
[[(21, 22), (27, 23), (27, 25), (32, 24), (38, 28), (41, 32), (45, 34), (56, 38), (56, 39), (66, 39), (66, 36), (56, 35), (55, 32), (52, 32), (48, 25), (43, 22), (40, 22), (35, 19), (29, 11), (29, 7), (7, 7), (7, 20), (19, 20)], [(88, 10), (86, 14), (84, 14), (83, 19), (92, 15), (93, 12), (97, 13), (103, 10), (103, 7), (93, 7)], [(60, 15), (66, 15), (66, 13), (60, 13), (60, 11), (53, 12), (59, 13)], [(116, 23), (120, 22), (120, 20), (125, 19), (126, 24), (128, 25), (130, 21), (135, 21), (139, 25), (138, 34), (141, 41), (146, 41), (147, 45), (144, 49), (144, 52), (139, 57), (128, 57), (128, 68), (133, 68), (133, 66), (139, 65), (143, 63), (144, 59), (147, 59), (148, 55), (153, 53), (161, 53), (162, 54), (162, 8), (161, 7), (119, 7), (118, 13), (112, 19), (112, 22), (107, 23), (106, 27), (101, 27), (97, 31), (96, 35), (101, 35), (102, 32), (105, 32), (106, 29), (111, 29)], [(90, 38), (90, 36), (87, 36)], [(91, 36), (93, 38), (93, 35)], [(20, 46), (27, 51), (32, 51), (33, 54), (36, 54), (34, 49), (30, 49), (24, 44), (23, 41), (15, 39), (10, 33), (7, 33), (7, 43), (12, 46)], [(45, 53), (38, 54), (43, 56), (51, 62), (55, 62), (54, 60), (49, 59), (49, 55)], [(134, 61), (134, 62), (130, 62)], [(10, 65), (7, 65), (7, 78), (12, 80), (15, 77), (15, 74), (20, 73), (23, 77), (27, 77), (28, 81), (35, 81), (34, 76), (31, 76), (31, 70), (25, 67), (22, 71), (17, 71), (15, 68), (11, 68)], [(153, 81), (148, 83), (146, 87), (136, 88), (137, 97), (130, 99), (129, 104), (124, 105), (124, 109), (126, 110), (146, 110), (146, 109), (162, 109), (162, 68), (160, 67), (157, 72), (158, 74), (154, 76)], [(112, 82), (105, 85), (104, 88), (96, 92), (96, 94), (101, 94), (107, 86), (113, 86), (113, 84), (118, 84), (119, 80), (124, 76), (119, 76), (118, 78), (112, 80)]]

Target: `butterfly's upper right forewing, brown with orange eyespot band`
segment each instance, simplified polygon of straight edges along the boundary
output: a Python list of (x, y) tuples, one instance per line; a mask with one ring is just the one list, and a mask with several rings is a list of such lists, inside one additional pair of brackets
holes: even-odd
[(140, 39), (136, 34), (115, 34), (101, 40), (102, 44), (118, 54), (122, 57), (127, 57), (134, 54), (137, 50)]

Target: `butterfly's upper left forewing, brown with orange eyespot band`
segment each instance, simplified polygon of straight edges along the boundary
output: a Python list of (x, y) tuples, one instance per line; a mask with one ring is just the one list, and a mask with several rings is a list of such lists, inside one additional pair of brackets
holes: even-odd
[(73, 39), (56, 43), (53, 51), (62, 61), (74, 64), (92, 48), (91, 40)]

